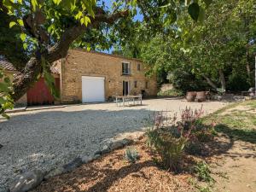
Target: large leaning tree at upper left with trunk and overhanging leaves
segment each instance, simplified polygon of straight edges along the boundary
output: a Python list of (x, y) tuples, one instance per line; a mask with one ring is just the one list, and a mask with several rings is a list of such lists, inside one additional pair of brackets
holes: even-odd
[[(136, 39), (131, 37), (140, 24), (132, 17), (137, 10), (143, 14), (143, 26), (150, 37), (168, 29), (166, 26), (177, 19), (179, 6), (198, 20), (202, 4), (209, 2), (116, 0), (109, 8), (103, 0), (0, 0), (4, 20), (1, 35), (8, 34), (0, 38), (0, 54), (20, 71), (15, 75), (12, 97), (18, 100), (42, 73), (52, 94), (57, 96), (49, 67), (53, 61), (65, 57), (69, 47), (108, 49), (111, 44), (127, 42), (135, 45)], [(8, 41), (15, 44), (3, 49)]]

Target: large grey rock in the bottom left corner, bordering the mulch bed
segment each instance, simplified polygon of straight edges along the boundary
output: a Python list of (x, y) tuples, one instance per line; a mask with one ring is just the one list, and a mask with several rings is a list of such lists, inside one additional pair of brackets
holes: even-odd
[(44, 173), (39, 170), (25, 172), (15, 177), (14, 181), (10, 184), (10, 192), (26, 192), (34, 189), (44, 179)]

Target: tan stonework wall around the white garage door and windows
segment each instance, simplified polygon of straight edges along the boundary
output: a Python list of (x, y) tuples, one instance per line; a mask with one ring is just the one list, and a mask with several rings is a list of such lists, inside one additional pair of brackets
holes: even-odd
[[(131, 63), (131, 75), (122, 75), (122, 62)], [(137, 70), (140, 63), (141, 70)], [(140, 94), (145, 90), (147, 96), (156, 96), (156, 78), (146, 78), (143, 62), (117, 55), (87, 52), (70, 49), (67, 57), (61, 60), (61, 102), (82, 101), (82, 76), (105, 78), (105, 99), (123, 95), (123, 81), (130, 82), (131, 95)], [(137, 88), (134, 82), (137, 81)], [(146, 82), (148, 81), (148, 89)]]

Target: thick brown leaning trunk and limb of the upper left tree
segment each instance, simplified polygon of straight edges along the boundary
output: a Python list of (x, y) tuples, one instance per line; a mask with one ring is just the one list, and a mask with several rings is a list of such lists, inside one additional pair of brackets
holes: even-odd
[[(95, 27), (100, 23), (113, 24), (114, 21), (119, 20), (129, 15), (129, 10), (113, 13), (112, 15), (106, 15), (104, 13), (96, 14), (95, 18), (90, 18), (90, 24), (88, 26), (72, 26), (68, 28), (61, 36), (61, 39), (52, 47), (50, 47), (45, 53), (42, 53), (41, 58), (44, 57), (45, 61), (52, 63), (67, 55), (67, 50), (70, 44), (83, 32), (87, 27)], [(20, 99), (26, 91), (34, 84), (38, 78), (38, 75), (42, 73), (41, 58), (32, 57), (27, 63), (26, 67), (20, 72), (15, 74), (14, 88), (15, 94), (13, 98), (15, 101)]]

